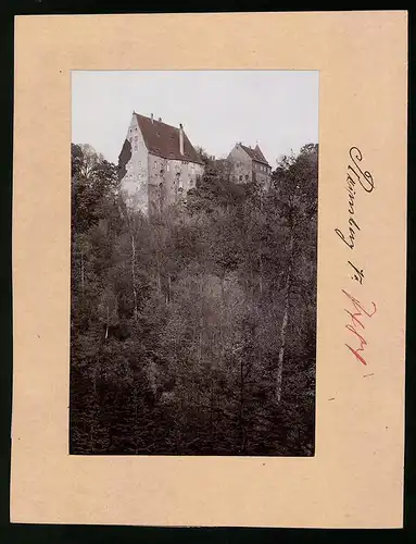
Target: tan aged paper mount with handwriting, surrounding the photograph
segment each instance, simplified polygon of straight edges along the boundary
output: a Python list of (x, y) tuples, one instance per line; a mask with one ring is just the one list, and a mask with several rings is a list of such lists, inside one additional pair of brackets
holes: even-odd
[[(406, 13), (18, 16), (15, 30), (11, 520), (402, 527)], [(315, 456), (70, 456), (71, 71), (201, 69), (319, 71)]]

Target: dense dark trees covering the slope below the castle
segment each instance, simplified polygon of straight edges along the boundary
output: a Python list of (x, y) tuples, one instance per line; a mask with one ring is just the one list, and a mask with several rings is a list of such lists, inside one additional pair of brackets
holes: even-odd
[(317, 163), (148, 218), (72, 145), (71, 454), (314, 455)]

